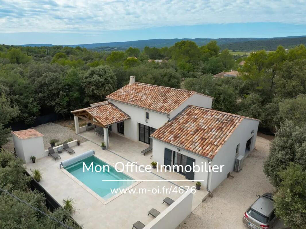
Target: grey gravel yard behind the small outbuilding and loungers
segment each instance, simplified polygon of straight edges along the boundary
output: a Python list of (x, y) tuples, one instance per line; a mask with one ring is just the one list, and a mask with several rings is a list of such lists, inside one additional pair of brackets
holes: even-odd
[[(65, 141), (68, 138), (72, 138), (73, 140), (80, 140), (81, 143), (87, 141), (87, 139), (81, 137), (80, 135), (77, 135), (73, 130), (69, 129), (68, 127), (64, 127), (53, 122), (38, 125), (30, 129), (35, 129), (39, 133), (43, 134), (43, 144), (45, 146), (45, 149), (50, 147), (50, 140), (53, 138), (60, 140), (60, 142)], [(14, 143), (12, 136), (10, 136), (10, 140), (11, 141), (8, 144), (4, 145), (4, 148), (8, 151), (13, 151)]]

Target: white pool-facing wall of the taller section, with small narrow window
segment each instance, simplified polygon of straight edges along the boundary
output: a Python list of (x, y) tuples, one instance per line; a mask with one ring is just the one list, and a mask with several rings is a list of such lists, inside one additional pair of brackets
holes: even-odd
[[(123, 112), (128, 114), (131, 118), (124, 121), (124, 136), (130, 140), (138, 141), (138, 124), (144, 124), (158, 129), (163, 124), (168, 122), (166, 114), (157, 113), (154, 111), (146, 110), (140, 107), (135, 107), (129, 104), (120, 103), (117, 101), (109, 100), (112, 104), (117, 106)], [(146, 112), (149, 113), (149, 119), (146, 120)], [(117, 132), (117, 124), (112, 125), (112, 131)]]

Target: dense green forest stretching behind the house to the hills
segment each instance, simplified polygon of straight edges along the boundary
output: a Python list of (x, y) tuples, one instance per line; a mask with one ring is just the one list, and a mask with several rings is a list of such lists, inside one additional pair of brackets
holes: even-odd
[[(162, 63), (149, 59), (167, 60)], [(245, 60), (244, 65), (239, 65)], [(237, 78), (214, 78), (221, 71)], [(79, 46), (21, 47), (0, 45), (0, 146), (7, 142), (8, 123), (34, 122), (39, 115), (70, 111), (102, 101), (128, 83), (137, 82), (194, 90), (213, 96), (213, 109), (260, 119), (274, 131), (284, 120), (306, 120), (306, 48), (278, 46), (242, 57), (220, 50), (216, 41), (198, 46), (181, 41), (143, 51), (96, 52)]]

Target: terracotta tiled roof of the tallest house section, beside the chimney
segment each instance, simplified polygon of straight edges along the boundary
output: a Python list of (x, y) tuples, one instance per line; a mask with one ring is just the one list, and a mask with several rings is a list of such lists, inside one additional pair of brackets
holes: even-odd
[[(135, 82), (125, 85), (111, 93), (106, 96), (106, 99), (143, 107), (169, 115), (195, 93), (194, 91)], [(212, 98), (211, 96), (207, 97)]]

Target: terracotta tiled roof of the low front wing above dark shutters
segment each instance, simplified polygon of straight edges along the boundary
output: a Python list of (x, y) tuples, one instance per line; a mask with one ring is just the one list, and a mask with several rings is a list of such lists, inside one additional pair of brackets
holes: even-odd
[(151, 137), (213, 159), (244, 118), (246, 117), (188, 106), (151, 134)]

